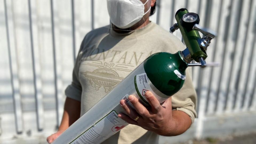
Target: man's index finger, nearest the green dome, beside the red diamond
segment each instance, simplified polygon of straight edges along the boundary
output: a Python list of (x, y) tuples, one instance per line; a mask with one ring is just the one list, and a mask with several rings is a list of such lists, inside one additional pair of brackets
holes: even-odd
[(160, 105), (157, 98), (155, 98), (155, 96), (153, 94), (151, 94), (149, 91), (147, 91), (145, 93), (145, 96), (146, 96), (147, 101), (149, 102), (149, 104), (151, 106), (152, 112), (157, 113), (162, 108), (162, 106)]

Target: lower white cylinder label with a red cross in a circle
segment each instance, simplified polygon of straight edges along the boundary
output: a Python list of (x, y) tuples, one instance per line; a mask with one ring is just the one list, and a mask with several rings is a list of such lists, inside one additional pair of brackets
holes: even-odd
[(111, 135), (127, 126), (129, 123), (118, 117), (113, 110), (90, 129), (76, 138), (72, 144), (97, 144), (102, 143)]

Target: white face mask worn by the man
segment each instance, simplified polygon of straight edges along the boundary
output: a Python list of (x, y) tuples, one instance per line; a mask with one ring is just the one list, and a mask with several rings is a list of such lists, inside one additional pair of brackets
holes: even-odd
[(145, 4), (140, 0), (107, 0), (110, 21), (120, 29), (127, 29), (139, 22), (150, 11), (151, 7), (144, 13)]

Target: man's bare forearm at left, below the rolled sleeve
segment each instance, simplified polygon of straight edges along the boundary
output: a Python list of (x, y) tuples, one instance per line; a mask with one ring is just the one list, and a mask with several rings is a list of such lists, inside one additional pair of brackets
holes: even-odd
[(58, 131), (64, 131), (71, 126), (80, 117), (80, 111), (81, 102), (67, 97), (64, 105), (61, 125), (59, 126)]

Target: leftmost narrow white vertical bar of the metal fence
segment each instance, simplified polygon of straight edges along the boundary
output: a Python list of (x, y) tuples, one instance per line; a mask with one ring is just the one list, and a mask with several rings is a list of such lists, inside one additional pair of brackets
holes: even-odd
[[(13, 90), (13, 104), (15, 113), (15, 125), (18, 134), (23, 132), (23, 119), (21, 108), (21, 95), (19, 93), (19, 76), (18, 76), (18, 63), (17, 63), (17, 50), (16, 50), (16, 34), (15, 34), (15, 16), (13, 13), (14, 7), (12, 1), (4, 0), (5, 4), (5, 21), (6, 33), (8, 41), (9, 63), (11, 85)], [(10, 7), (11, 9), (7, 9)]]

